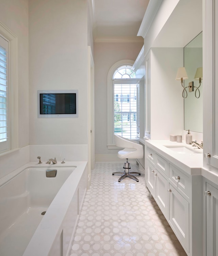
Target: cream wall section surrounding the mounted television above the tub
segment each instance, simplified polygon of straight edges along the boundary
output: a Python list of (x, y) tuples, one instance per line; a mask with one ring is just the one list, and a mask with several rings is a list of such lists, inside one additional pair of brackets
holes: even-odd
[[(30, 144), (87, 144), (87, 1), (29, 1)], [(78, 118), (38, 118), (37, 90), (78, 90)]]

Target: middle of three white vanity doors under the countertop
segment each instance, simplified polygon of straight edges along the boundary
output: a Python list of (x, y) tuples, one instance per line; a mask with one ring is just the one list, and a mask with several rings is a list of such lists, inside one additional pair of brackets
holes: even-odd
[(168, 190), (167, 190), (167, 179), (156, 169), (156, 202), (160, 207), (163, 215), (167, 218), (167, 199), (168, 199)]

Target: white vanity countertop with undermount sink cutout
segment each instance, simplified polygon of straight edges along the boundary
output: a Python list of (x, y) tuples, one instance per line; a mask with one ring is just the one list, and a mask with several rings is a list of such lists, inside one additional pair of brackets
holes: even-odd
[[(171, 142), (170, 140), (145, 140), (145, 146), (150, 147), (187, 174), (201, 175), (201, 168), (203, 167), (203, 149), (194, 148), (184, 141), (177, 143)], [(185, 146), (200, 153), (178, 153), (165, 146)]]

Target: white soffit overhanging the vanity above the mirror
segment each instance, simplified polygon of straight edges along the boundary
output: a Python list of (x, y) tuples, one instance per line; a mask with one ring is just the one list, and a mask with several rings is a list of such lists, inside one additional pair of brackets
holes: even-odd
[[(202, 0), (164, 0), (144, 38), (151, 47), (184, 47), (202, 31)], [(191, 26), (190, 26), (191, 24)]]

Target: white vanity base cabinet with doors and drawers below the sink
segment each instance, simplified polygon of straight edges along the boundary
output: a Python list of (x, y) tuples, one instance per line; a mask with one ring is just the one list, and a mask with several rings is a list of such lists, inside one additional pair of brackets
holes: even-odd
[(202, 256), (202, 176), (186, 173), (147, 144), (146, 186), (187, 255)]

